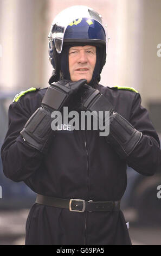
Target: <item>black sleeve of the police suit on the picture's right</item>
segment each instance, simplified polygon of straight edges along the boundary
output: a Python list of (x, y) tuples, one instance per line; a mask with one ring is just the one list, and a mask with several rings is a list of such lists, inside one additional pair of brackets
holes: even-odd
[(147, 109), (141, 106), (139, 93), (134, 98), (130, 123), (142, 132), (143, 136), (127, 157), (127, 164), (140, 174), (153, 175), (161, 166), (160, 142)]

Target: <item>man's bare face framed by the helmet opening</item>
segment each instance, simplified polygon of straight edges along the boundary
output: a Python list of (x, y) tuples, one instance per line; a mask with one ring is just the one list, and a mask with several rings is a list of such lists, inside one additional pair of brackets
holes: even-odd
[(73, 82), (86, 79), (87, 83), (89, 83), (92, 80), (95, 63), (95, 46), (85, 45), (69, 48), (69, 72), (70, 79)]

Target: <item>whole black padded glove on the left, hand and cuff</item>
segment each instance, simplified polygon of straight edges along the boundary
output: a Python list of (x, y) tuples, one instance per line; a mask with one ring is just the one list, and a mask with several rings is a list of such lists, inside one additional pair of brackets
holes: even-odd
[(25, 124), (21, 135), (31, 147), (46, 153), (52, 141), (51, 113), (62, 111), (63, 106), (70, 106), (72, 99), (80, 87), (87, 81), (85, 79), (72, 82), (61, 80), (51, 84), (42, 100), (42, 107), (38, 108)]

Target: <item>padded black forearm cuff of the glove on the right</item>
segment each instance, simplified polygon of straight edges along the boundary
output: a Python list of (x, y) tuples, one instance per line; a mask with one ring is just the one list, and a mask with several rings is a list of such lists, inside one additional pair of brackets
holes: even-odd
[(118, 113), (110, 117), (110, 135), (106, 137), (122, 159), (128, 157), (141, 139), (142, 133), (137, 131)]

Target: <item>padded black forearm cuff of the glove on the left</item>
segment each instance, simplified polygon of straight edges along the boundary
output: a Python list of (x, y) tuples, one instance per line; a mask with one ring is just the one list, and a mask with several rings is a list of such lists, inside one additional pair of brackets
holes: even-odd
[(51, 117), (42, 107), (38, 108), (20, 132), (32, 147), (43, 151), (51, 135)]

